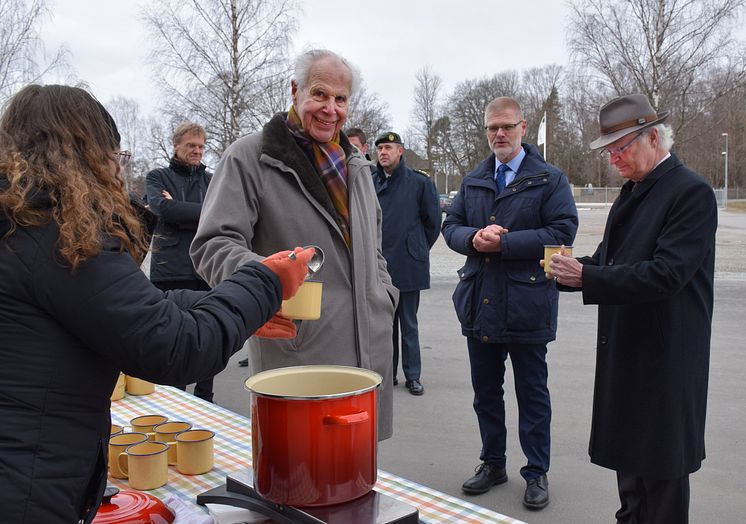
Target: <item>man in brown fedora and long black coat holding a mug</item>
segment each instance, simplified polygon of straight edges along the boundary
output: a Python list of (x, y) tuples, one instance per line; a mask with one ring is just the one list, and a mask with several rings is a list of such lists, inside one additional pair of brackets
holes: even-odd
[(717, 205), (670, 153), (667, 113), (644, 95), (599, 113), (602, 149), (627, 182), (593, 256), (552, 256), (564, 291), (598, 305), (591, 462), (617, 472), (617, 522), (686, 523), (705, 457)]

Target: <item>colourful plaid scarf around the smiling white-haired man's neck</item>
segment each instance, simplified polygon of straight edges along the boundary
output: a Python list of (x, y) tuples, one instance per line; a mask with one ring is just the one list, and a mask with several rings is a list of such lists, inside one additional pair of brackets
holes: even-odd
[(342, 236), (349, 248), (352, 244), (350, 238), (350, 210), (348, 208), (349, 195), (347, 192), (347, 164), (345, 153), (339, 145), (339, 133), (329, 142), (316, 142), (311, 140), (303, 131), (303, 123), (295, 111), (295, 106), (290, 107), (286, 120), (290, 133), (297, 144), (313, 153), (316, 170), (321, 176), (321, 181), (332, 199), (334, 209), (337, 210), (337, 224), (342, 230)]

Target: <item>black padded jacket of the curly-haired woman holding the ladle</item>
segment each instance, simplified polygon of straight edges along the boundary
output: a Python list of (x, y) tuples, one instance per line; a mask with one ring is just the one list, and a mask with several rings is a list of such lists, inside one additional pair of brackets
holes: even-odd
[(164, 294), (116, 241), (71, 273), (53, 222), (8, 231), (0, 210), (0, 521), (89, 522), (119, 372), (212, 377), (277, 311), (280, 283), (252, 262), (210, 292)]

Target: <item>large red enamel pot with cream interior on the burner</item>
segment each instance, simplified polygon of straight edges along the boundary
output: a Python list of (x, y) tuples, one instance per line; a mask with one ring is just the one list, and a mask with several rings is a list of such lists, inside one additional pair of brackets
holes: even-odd
[(277, 504), (326, 506), (373, 489), (381, 380), (346, 366), (280, 368), (249, 378), (256, 491)]

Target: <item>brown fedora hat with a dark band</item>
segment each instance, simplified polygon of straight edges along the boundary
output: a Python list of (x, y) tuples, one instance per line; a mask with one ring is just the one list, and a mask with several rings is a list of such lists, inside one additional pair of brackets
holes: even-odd
[(645, 95), (625, 95), (607, 102), (598, 112), (601, 136), (591, 142), (591, 149), (600, 149), (640, 129), (660, 124), (668, 111), (656, 113)]

